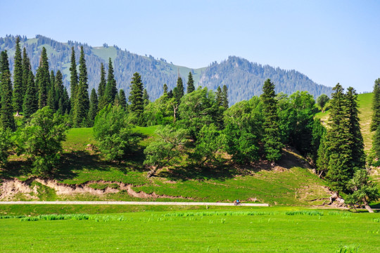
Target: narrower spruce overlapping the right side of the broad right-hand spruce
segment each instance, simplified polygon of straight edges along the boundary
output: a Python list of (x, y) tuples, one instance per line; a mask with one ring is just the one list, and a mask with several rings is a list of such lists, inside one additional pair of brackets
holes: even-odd
[(365, 169), (365, 152), (362, 132), (360, 131), (359, 110), (357, 110), (357, 93), (349, 87), (346, 93), (348, 103), (348, 120), (350, 121), (351, 162), (354, 171)]

